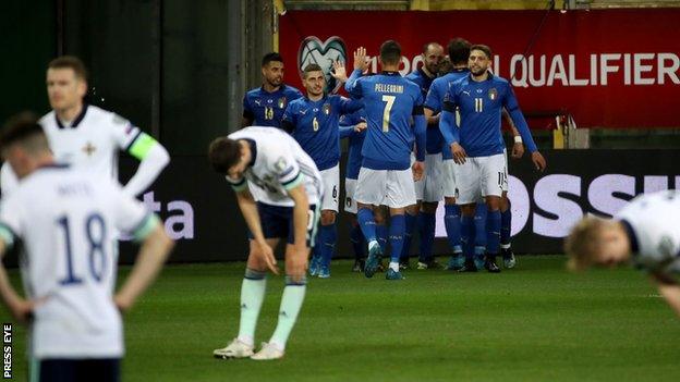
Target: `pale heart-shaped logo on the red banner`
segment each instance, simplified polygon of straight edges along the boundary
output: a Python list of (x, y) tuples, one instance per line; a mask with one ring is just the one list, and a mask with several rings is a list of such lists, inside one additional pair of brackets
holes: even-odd
[(315, 63), (321, 66), (326, 77), (326, 91), (336, 93), (340, 84), (330, 75), (332, 63), (341, 61), (347, 64), (347, 46), (342, 38), (338, 36), (329, 37), (323, 41), (316, 36), (308, 36), (300, 45), (298, 50), (298, 70), (302, 74), (305, 66)]

